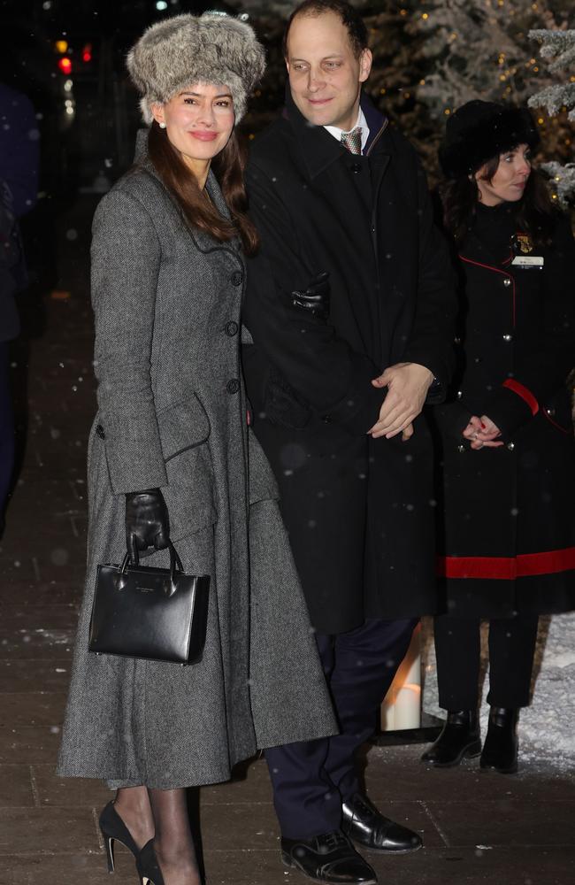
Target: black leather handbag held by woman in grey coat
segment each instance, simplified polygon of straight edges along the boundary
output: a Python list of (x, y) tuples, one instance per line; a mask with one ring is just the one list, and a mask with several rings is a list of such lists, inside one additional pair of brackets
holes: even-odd
[(185, 574), (173, 544), (170, 568), (98, 566), (88, 650), (96, 654), (196, 664), (208, 621), (209, 575)]

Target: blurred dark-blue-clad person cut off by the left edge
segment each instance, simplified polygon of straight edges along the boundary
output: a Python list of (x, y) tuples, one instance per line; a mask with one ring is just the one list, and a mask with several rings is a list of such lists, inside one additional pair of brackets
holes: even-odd
[(15, 296), (27, 285), (18, 219), (36, 203), (38, 164), (35, 110), (27, 96), (0, 82), (0, 535), (14, 464), (9, 342), (20, 328)]

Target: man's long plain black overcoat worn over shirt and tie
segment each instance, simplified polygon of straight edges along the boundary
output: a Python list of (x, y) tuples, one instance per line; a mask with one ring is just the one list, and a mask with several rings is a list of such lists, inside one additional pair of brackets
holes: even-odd
[[(287, 110), (254, 142), (247, 182), (262, 246), (250, 262), (244, 371), (258, 439), (313, 625), (339, 633), (366, 617), (433, 610), (432, 444), (426, 420), (403, 443), (372, 440), (389, 365), (451, 372), (455, 296), (418, 158), (362, 99), (363, 156)], [(289, 293), (329, 273), (326, 323)]]

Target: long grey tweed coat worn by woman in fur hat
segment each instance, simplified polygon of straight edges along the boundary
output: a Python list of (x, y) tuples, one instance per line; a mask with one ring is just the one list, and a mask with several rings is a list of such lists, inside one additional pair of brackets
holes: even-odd
[[(227, 215), (213, 173), (207, 188)], [(191, 230), (149, 160), (96, 210), (98, 413), (88, 574), (58, 773), (170, 789), (226, 780), (257, 748), (334, 734), (277, 489), (246, 421), (238, 242)], [(159, 487), (188, 573), (211, 575), (203, 660), (88, 652), (96, 566), (125, 551), (124, 493)], [(167, 551), (146, 564), (167, 566)]]

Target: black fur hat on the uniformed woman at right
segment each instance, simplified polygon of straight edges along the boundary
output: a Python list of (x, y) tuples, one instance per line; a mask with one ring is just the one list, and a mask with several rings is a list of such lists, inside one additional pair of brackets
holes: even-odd
[(540, 137), (526, 108), (479, 100), (462, 104), (445, 127), (439, 158), (447, 178), (476, 173), (517, 144), (535, 148)]

